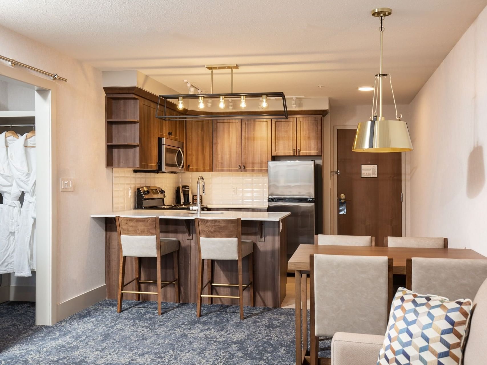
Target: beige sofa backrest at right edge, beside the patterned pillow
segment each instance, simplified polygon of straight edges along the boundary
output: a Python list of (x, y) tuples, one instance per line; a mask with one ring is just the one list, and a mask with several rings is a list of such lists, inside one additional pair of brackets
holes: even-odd
[(487, 280), (473, 300), (464, 365), (487, 364)]

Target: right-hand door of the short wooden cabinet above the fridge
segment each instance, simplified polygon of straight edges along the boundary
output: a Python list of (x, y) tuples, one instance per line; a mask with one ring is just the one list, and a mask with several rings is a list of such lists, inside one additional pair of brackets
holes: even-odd
[(321, 117), (297, 118), (297, 155), (321, 156)]

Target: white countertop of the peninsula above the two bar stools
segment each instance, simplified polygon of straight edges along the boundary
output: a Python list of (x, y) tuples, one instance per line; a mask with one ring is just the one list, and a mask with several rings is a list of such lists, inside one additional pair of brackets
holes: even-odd
[[(291, 213), (282, 212), (218, 212), (221, 214), (206, 213), (203, 211), (201, 213), (201, 218), (207, 219), (230, 219), (230, 218), (242, 218), (242, 220), (273, 220), (279, 221), (289, 216)], [(92, 214), (92, 218), (115, 218), (116, 216), (121, 217), (159, 217), (160, 219), (195, 219), (198, 217), (196, 212), (191, 213), (190, 211), (184, 210), (158, 210), (158, 209), (132, 209), (132, 210), (122, 210), (119, 212), (107, 212), (101, 214)]]

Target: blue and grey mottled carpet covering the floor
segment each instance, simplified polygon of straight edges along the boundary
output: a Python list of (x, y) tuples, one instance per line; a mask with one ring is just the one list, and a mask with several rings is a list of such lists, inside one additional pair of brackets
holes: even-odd
[[(0, 304), (0, 364), (293, 364), (294, 310), (104, 300), (55, 326), (34, 303)], [(329, 356), (330, 341), (320, 342)]]

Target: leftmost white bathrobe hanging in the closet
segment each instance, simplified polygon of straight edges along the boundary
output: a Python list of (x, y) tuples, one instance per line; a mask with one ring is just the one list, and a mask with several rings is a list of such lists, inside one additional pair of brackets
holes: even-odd
[(20, 218), (20, 190), (10, 170), (6, 146), (12, 146), (17, 141), (17, 138), (12, 136), (5, 138), (5, 132), (0, 134), (0, 193), (3, 199), (3, 204), (0, 204), (0, 274), (14, 272), (15, 231)]

